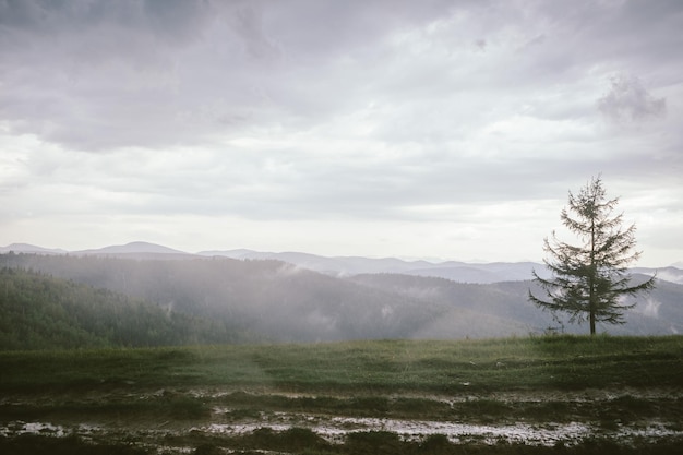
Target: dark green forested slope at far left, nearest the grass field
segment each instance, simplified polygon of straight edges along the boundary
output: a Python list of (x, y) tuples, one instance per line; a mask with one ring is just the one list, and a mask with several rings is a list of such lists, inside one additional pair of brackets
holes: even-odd
[(168, 346), (235, 340), (223, 322), (37, 272), (0, 268), (0, 349)]

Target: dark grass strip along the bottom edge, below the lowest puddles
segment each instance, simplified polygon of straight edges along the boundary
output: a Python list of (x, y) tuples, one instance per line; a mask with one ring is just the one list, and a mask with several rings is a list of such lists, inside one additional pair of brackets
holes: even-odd
[[(658, 442), (646, 446), (620, 445), (609, 440), (589, 440), (586, 443), (564, 446), (529, 446), (522, 443), (495, 445), (468, 445), (451, 443), (442, 435), (428, 436), (423, 442), (402, 441), (394, 433), (384, 431), (354, 432), (344, 444), (331, 444), (310, 430), (292, 428), (284, 432), (268, 429), (254, 431), (249, 435), (233, 438), (206, 438), (202, 442), (193, 438), (167, 438), (167, 444), (194, 445), (195, 455), (238, 454), (255, 455), (263, 453), (305, 454), (305, 455), (670, 455), (679, 453), (680, 442)], [(193, 444), (194, 443), (194, 444)], [(76, 436), (51, 439), (44, 436), (22, 436), (7, 440), (0, 436), (0, 451), (13, 455), (147, 455), (175, 454), (170, 450), (143, 448), (135, 442), (98, 444)]]

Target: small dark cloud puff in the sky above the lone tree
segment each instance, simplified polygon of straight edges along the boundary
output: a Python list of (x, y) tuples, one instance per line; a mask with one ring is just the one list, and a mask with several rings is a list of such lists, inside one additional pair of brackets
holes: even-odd
[(667, 100), (656, 98), (635, 76), (615, 76), (610, 91), (598, 99), (598, 109), (614, 122), (639, 122), (663, 117)]

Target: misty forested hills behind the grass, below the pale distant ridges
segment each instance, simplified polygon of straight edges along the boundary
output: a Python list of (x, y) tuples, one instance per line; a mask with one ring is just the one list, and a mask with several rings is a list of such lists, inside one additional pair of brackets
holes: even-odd
[[(13, 321), (20, 321), (2, 315), (3, 333), (14, 334), (1, 346), (5, 348), (39, 346), (43, 338), (56, 339), (53, 332), (62, 334), (64, 342), (57, 345), (64, 347), (481, 338), (526, 336), (549, 327), (587, 332), (566, 321), (561, 324), (531, 304), (529, 288), (539, 291), (531, 282), (476, 285), (396, 274), (335, 277), (274, 260), (226, 258), (2, 254), (2, 266), (8, 267), (5, 275), (10, 270), (19, 274), (0, 283), (0, 296), (7, 288), (8, 299), (2, 311), (13, 309)], [(21, 272), (27, 270), (52, 277)], [(28, 278), (33, 283), (24, 287), (46, 289), (35, 295), (11, 291)], [(650, 295), (638, 298), (625, 325), (601, 326), (599, 332), (683, 333), (681, 302), (683, 286), (661, 280)], [(32, 313), (17, 319), (20, 310)], [(20, 338), (19, 327), (24, 327)], [(41, 338), (40, 333), (50, 335)], [(11, 342), (16, 339), (38, 342), (19, 346)]]

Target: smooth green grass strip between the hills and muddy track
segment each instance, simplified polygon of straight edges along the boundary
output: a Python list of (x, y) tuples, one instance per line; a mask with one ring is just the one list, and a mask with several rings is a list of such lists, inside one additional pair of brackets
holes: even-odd
[(0, 391), (122, 384), (370, 394), (680, 386), (682, 352), (681, 336), (13, 351), (0, 352)]

